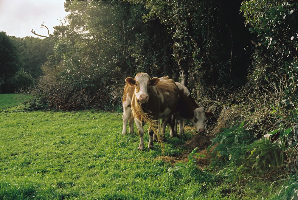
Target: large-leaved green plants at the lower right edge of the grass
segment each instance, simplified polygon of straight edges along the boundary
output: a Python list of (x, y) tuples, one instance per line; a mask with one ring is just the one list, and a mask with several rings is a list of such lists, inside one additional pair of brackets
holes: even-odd
[(234, 182), (241, 180), (243, 176), (275, 179), (278, 174), (288, 170), (285, 163), (287, 137), (292, 129), (279, 128), (269, 132), (268, 135), (279, 134), (277, 141), (271, 142), (268, 138), (255, 140), (243, 125), (242, 122), (233, 128), (225, 129), (211, 139), (215, 146), (213, 152), (216, 153), (213, 165), (224, 162), (225, 174), (232, 175)]

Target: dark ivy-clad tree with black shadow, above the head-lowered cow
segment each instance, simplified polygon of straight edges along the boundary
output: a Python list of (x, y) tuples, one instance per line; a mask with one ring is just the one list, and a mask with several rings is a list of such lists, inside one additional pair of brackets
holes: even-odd
[(238, 4), (207, 0), (129, 1), (146, 6), (146, 21), (158, 18), (167, 26), (173, 39), (174, 60), (190, 89), (195, 88), (199, 94), (209, 86), (245, 83), (249, 54), (243, 50), (249, 37), (238, 36), (240, 32), (247, 34), (238, 12), (240, 0)]

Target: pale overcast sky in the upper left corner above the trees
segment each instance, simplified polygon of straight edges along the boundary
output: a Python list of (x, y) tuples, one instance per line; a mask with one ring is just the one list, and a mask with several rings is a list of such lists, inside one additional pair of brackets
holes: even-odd
[(48, 35), (46, 28), (40, 28), (44, 22), (53, 33), (53, 26), (60, 24), (67, 13), (64, 0), (0, 0), (0, 31), (18, 38)]

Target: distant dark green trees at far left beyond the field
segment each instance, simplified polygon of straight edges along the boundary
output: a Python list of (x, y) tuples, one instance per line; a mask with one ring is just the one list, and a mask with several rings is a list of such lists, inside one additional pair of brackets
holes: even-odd
[(5, 32), (1, 32), (0, 37), (0, 91), (13, 93), (33, 88), (43, 75), (41, 65), (52, 54), (54, 41), (9, 37)]

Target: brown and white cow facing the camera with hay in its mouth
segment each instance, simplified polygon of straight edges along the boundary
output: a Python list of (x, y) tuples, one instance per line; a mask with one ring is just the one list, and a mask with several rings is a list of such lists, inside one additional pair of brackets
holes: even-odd
[[(144, 124), (142, 123), (144, 116), (142, 112), (147, 113), (150, 119), (155, 122), (150, 124), (148, 129), (148, 148), (152, 149), (152, 127), (157, 127), (158, 119), (166, 119), (167, 121), (174, 113), (179, 97), (178, 88), (171, 79), (160, 81), (157, 77), (150, 78), (146, 73), (138, 73), (135, 78), (128, 77), (125, 81), (130, 86), (135, 86), (131, 100), (131, 110), (140, 135), (138, 150), (144, 150)], [(165, 124), (162, 124), (161, 137), (164, 136)]]

